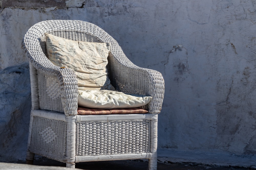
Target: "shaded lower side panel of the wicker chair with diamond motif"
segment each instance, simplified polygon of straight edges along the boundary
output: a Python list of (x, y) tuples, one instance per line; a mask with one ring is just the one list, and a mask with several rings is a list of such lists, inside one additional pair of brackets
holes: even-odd
[(62, 162), (66, 155), (66, 122), (34, 117), (32, 129), (28, 150)]

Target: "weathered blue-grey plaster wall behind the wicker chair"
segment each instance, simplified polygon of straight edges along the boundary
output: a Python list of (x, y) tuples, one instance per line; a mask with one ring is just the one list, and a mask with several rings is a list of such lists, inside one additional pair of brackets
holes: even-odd
[(97, 24), (132, 62), (163, 74), (159, 156), (256, 164), (256, 0), (0, 3), (1, 161), (25, 159), (30, 87), (22, 38), (39, 21), (71, 19)]

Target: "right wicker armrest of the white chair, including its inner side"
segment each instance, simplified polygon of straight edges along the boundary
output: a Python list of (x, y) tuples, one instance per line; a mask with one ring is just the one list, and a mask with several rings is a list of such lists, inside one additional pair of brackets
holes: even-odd
[(164, 79), (160, 72), (134, 65), (126, 56), (122, 62), (113, 53), (109, 55), (108, 72), (111, 84), (123, 93), (149, 95), (149, 113), (160, 113), (164, 98)]

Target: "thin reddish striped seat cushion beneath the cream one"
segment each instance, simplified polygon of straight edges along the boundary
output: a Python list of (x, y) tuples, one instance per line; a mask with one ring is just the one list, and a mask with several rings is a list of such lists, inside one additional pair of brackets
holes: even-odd
[(78, 107), (77, 114), (79, 115), (97, 115), (97, 114), (133, 114), (133, 113), (147, 113), (148, 111), (142, 108), (128, 108), (128, 109), (92, 109)]

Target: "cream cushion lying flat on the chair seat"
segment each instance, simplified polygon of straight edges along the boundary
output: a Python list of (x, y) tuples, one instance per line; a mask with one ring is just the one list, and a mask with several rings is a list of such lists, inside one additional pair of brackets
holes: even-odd
[(150, 102), (151, 96), (124, 94), (111, 90), (78, 90), (78, 106), (99, 109), (136, 108)]

